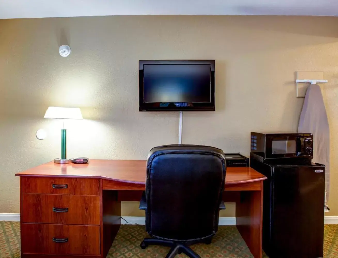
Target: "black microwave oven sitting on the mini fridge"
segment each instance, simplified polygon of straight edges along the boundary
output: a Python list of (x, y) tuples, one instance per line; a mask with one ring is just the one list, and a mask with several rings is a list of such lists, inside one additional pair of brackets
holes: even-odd
[(311, 133), (251, 132), (251, 154), (262, 162), (268, 160), (312, 160)]

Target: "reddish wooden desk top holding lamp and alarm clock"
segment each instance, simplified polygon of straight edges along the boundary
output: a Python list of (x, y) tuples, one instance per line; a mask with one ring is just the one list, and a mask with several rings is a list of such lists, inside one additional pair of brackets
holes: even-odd
[[(16, 176), (93, 177), (133, 184), (145, 184), (146, 160), (91, 159), (88, 164), (57, 164), (54, 161), (33, 167)], [(266, 179), (251, 167), (227, 167), (225, 184)]]

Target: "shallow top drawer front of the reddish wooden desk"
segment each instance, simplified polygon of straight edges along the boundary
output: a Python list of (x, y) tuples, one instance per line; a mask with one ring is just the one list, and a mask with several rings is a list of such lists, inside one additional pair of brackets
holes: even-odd
[(100, 194), (100, 181), (96, 178), (22, 177), (21, 185), (23, 193)]

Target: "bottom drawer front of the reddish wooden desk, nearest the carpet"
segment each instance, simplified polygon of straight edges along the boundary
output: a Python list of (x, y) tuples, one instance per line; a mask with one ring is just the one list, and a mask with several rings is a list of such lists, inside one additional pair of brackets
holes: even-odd
[(24, 254), (99, 255), (100, 226), (22, 223), (21, 250)]

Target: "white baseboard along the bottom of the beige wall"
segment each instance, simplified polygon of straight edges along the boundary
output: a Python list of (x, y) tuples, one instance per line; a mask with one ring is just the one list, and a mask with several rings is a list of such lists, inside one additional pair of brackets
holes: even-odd
[[(145, 217), (128, 217), (123, 216), (129, 224), (137, 223), (139, 225), (145, 225)], [(0, 221), (20, 221), (20, 213), (0, 213)], [(128, 225), (124, 220), (121, 220), (122, 225)], [(338, 224), (338, 216), (325, 216), (324, 224)], [(235, 217), (221, 217), (219, 218), (220, 226), (236, 225)]]

